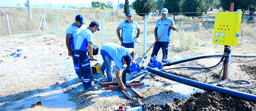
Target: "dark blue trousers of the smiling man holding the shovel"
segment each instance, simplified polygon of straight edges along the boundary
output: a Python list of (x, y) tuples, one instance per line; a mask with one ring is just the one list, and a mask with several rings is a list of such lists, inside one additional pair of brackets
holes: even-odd
[(157, 41), (154, 44), (154, 48), (153, 48), (153, 51), (152, 51), (152, 54), (151, 54), (151, 58), (150, 58), (150, 63), (152, 63), (152, 60), (153, 60), (154, 56), (157, 57), (157, 54), (158, 54), (160, 48), (162, 48), (162, 51), (163, 51), (162, 62), (163, 63), (167, 62), (167, 59), (168, 59), (168, 47), (169, 47), (169, 42)]

